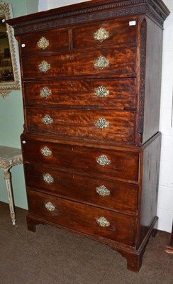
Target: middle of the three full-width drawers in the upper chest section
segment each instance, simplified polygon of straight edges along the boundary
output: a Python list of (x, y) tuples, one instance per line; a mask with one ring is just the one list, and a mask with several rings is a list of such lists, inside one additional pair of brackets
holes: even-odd
[(24, 83), (26, 105), (135, 108), (136, 80), (63, 80)]

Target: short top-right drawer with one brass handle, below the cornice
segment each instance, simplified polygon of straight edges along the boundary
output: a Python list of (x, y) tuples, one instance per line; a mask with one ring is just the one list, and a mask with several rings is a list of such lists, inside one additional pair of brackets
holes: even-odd
[[(130, 19), (132, 21), (132, 19)], [(97, 45), (136, 43), (137, 25), (130, 26), (129, 19), (108, 21), (73, 29), (73, 48)], [(133, 21), (136, 21), (133, 19)]]

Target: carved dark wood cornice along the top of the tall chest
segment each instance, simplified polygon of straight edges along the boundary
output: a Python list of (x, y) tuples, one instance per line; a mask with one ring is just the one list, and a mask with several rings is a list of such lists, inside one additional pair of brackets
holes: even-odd
[(162, 0), (93, 0), (13, 18), (7, 23), (13, 26), (15, 35), (21, 35), (45, 28), (137, 14), (146, 14), (162, 27), (169, 10)]

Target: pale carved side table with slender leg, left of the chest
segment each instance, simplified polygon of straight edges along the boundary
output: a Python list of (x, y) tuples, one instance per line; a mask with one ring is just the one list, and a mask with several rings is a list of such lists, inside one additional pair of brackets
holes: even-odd
[(0, 168), (4, 170), (4, 179), (6, 180), (6, 190), (9, 197), (9, 207), (13, 225), (16, 224), (16, 214), (13, 205), (13, 195), (11, 190), (10, 168), (14, 165), (23, 163), (21, 149), (0, 146)]

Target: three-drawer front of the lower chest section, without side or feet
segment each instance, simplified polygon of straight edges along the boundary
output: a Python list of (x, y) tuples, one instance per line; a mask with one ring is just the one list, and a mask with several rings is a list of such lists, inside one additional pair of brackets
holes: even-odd
[(140, 154), (23, 140), (29, 214), (135, 246)]

